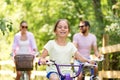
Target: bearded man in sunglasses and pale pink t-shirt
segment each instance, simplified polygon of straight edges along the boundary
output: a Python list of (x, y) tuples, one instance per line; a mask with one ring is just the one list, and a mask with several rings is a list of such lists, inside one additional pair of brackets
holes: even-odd
[[(89, 33), (90, 24), (88, 21), (81, 21), (79, 24), (80, 32), (76, 33), (73, 36), (73, 43), (78, 49), (78, 52), (82, 57), (86, 59), (90, 59), (91, 49), (93, 48), (95, 55), (100, 58), (100, 54), (98, 54), (97, 50), (97, 41), (96, 36), (92, 33)], [(80, 61), (75, 61), (79, 63)], [(97, 74), (98, 68), (94, 68), (94, 75)], [(82, 74), (78, 77), (77, 80), (82, 80)]]

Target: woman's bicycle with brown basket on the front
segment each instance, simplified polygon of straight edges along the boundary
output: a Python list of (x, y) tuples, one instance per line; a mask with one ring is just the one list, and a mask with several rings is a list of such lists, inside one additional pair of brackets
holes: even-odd
[(32, 54), (18, 54), (15, 58), (16, 70), (21, 71), (20, 80), (29, 80), (27, 71), (33, 70), (33, 60), (39, 53)]

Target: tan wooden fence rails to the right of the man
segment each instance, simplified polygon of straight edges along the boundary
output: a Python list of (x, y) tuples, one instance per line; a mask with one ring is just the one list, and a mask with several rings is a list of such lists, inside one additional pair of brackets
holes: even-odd
[[(110, 53), (120, 52), (120, 44), (99, 48), (99, 52), (102, 54), (110, 54)], [(100, 76), (101, 80), (103, 80), (103, 78), (120, 79), (120, 69), (119, 69), (119, 71), (113, 71), (113, 70), (111, 70), (111, 71), (105, 70), (104, 71), (104, 70), (102, 70), (102, 71), (99, 71), (99, 76)]]

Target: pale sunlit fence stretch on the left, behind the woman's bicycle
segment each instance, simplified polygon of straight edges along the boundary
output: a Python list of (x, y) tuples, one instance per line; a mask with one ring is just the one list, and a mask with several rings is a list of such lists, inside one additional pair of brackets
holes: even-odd
[[(34, 70), (32, 70), (31, 79), (33, 80), (36, 76), (44, 77), (42, 80), (46, 79), (46, 71), (38, 71), (36, 66), (36, 61), (34, 61)], [(3, 69), (5, 66), (9, 66), (7, 69)], [(15, 71), (15, 64), (13, 60), (6, 60), (6, 61), (0, 61), (0, 77), (1, 75), (9, 75), (13, 77), (13, 79), (16, 77), (16, 71)], [(0, 78), (1, 79), (1, 78)]]

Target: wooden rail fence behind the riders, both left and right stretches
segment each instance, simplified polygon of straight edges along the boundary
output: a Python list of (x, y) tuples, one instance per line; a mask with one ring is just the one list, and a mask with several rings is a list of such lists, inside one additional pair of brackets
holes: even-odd
[[(101, 54), (110, 54), (113, 52), (120, 52), (120, 44), (117, 45), (112, 45), (112, 46), (106, 46), (106, 47), (102, 47), (99, 48), (99, 52)], [(14, 62), (12, 60), (7, 60), (7, 61), (0, 61), (0, 74), (10, 74), (11, 76), (15, 77), (16, 74), (11, 70), (1, 70), (1, 66), (5, 66), (5, 65), (11, 65), (13, 68), (15, 68)], [(36, 66), (37, 68), (37, 66)], [(33, 71), (33, 77), (35, 77), (35, 75), (37, 76), (45, 76), (46, 72), (45, 71)], [(118, 78), (120, 79), (120, 70), (119, 71), (99, 71), (99, 77), (101, 78), (101, 80), (103, 80), (103, 78)]]

